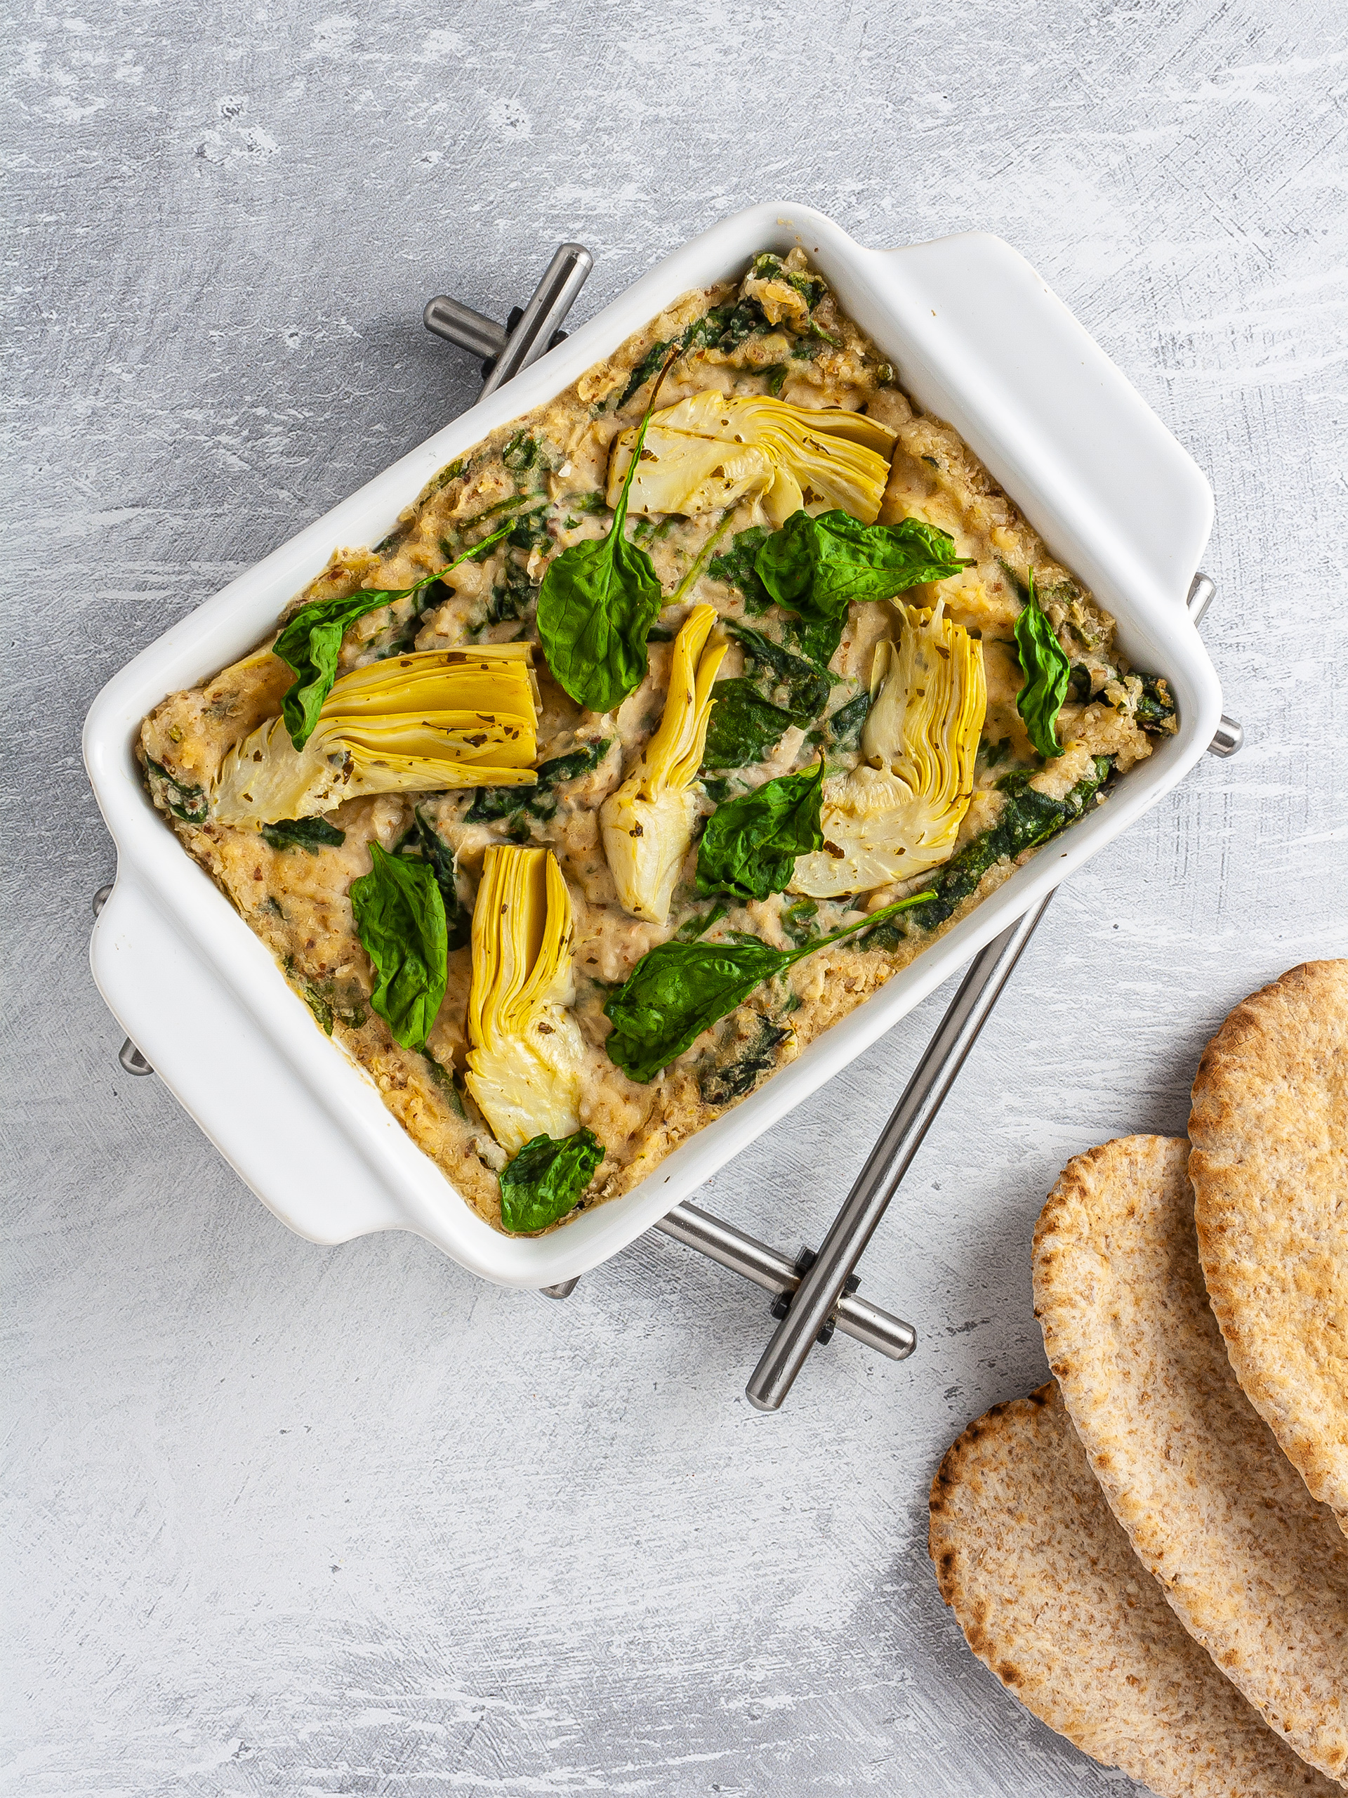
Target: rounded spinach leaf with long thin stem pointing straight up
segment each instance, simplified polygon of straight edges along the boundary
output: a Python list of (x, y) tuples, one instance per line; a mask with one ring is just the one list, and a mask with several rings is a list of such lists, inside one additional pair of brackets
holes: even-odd
[(548, 667), (590, 712), (611, 712), (642, 685), (645, 636), (665, 602), (651, 557), (624, 536), (627, 494), (654, 403), (652, 392), (607, 536), (586, 538), (554, 556), (537, 597), (537, 633)]

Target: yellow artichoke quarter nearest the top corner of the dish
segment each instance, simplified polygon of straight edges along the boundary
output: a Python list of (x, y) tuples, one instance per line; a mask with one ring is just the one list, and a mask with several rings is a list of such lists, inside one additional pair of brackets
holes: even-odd
[[(613, 442), (609, 505), (622, 491), (634, 442), (636, 430)], [(812, 503), (841, 507), (872, 525), (893, 444), (888, 424), (861, 412), (708, 390), (651, 415), (627, 509), (692, 518), (757, 496), (773, 525)]]

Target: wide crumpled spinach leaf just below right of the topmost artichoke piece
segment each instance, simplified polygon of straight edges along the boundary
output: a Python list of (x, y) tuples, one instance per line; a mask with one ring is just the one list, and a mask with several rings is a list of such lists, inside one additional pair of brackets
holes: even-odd
[[(838, 649), (850, 604), (893, 599), (924, 581), (969, 568), (954, 539), (935, 525), (863, 525), (847, 512), (793, 512), (762, 545), (755, 570), (764, 588), (812, 629), (811, 653), (827, 662)], [(827, 645), (827, 654), (823, 653)]]

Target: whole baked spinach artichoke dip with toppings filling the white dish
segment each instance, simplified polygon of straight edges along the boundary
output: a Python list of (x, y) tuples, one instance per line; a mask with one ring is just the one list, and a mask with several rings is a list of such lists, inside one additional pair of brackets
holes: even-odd
[(633, 1188), (1175, 728), (800, 250), (685, 295), (144, 723), (458, 1194)]

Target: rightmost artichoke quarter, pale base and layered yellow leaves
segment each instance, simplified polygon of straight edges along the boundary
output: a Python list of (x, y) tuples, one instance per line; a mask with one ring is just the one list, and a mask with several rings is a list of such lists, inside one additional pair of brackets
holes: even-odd
[(899, 642), (875, 645), (863, 764), (823, 784), (823, 849), (796, 859), (791, 892), (870, 892), (954, 852), (974, 791), (987, 712), (983, 653), (963, 626), (915, 606)]

